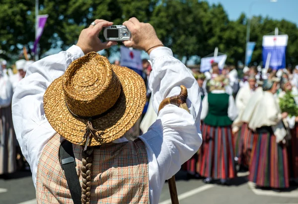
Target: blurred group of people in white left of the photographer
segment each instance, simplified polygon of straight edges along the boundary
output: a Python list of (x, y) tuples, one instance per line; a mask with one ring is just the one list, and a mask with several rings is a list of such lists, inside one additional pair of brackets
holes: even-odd
[(29, 170), (15, 137), (11, 100), (17, 83), (25, 77), (26, 68), (33, 62), (20, 59), (7, 68), (6, 60), (0, 61), (0, 175)]

